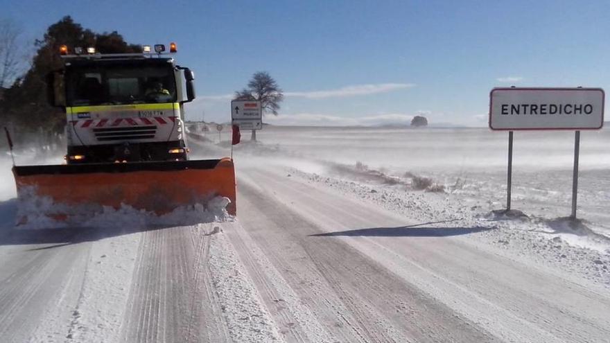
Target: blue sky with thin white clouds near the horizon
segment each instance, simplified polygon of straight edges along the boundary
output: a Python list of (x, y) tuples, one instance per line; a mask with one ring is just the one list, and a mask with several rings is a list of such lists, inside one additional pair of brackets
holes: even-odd
[(175, 41), (187, 116), (227, 121), (255, 71), (286, 92), (270, 123), (486, 125), (495, 86), (610, 89), (610, 1), (6, 1), (32, 41), (64, 15), (138, 44)]

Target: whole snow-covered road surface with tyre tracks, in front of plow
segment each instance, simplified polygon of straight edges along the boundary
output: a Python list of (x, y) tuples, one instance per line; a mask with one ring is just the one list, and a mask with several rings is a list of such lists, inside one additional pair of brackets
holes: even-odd
[[(471, 239), (482, 228), (416, 222), (277, 168), (237, 176), (236, 222), (3, 230), (3, 342), (610, 337), (607, 289), (499, 254)], [(235, 257), (225, 276), (219, 237)], [(236, 290), (252, 315), (230, 315)]]

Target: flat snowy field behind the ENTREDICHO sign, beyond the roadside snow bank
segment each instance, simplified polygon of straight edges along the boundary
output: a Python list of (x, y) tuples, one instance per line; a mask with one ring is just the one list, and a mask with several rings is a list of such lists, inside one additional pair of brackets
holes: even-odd
[[(485, 214), (505, 208), (507, 135), (507, 132), (491, 132), (487, 128), (268, 127), (259, 132), (264, 148), (244, 144), (236, 150), (263, 154), (277, 164), (307, 173), (363, 184), (391, 184), (394, 182), (391, 178), (395, 177), (397, 185), (387, 189), (399, 193), (404, 193), (403, 184), (411, 182), (410, 175), (428, 177), (444, 186), (453, 202), (468, 208), (477, 206), (477, 212)], [(250, 139), (248, 134), (244, 137)], [(586, 227), (608, 237), (609, 142), (609, 129), (582, 132), (577, 213)], [(573, 132), (514, 134), (513, 209), (540, 220), (552, 221), (570, 215), (573, 146)], [(239, 164), (241, 156), (237, 156)], [(363, 169), (382, 175), (363, 173)], [(587, 240), (579, 241), (586, 243)]]

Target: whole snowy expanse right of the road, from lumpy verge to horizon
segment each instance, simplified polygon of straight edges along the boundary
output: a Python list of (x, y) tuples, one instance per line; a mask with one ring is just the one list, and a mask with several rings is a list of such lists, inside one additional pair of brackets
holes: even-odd
[(523, 217), (493, 213), (505, 206), (507, 143), (485, 129), (266, 127), (259, 142), (234, 146), (234, 155), (236, 166), (285, 168), (286, 177), (414, 220), (485, 228), (468, 235), (481, 249), (610, 286), (609, 135), (582, 137), (577, 221), (566, 218), (570, 132), (516, 137), (512, 207)]

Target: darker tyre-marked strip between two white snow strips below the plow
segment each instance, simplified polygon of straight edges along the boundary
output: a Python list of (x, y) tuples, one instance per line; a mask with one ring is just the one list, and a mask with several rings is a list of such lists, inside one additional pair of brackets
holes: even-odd
[(225, 342), (226, 324), (209, 276), (204, 227), (143, 233), (123, 342)]

